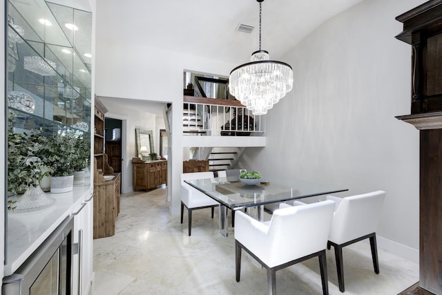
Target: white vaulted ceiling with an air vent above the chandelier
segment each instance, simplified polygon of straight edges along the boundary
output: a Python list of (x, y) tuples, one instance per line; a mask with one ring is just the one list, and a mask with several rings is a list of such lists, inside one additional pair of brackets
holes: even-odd
[[(324, 21), (362, 0), (266, 0), (262, 49), (278, 59)], [(238, 32), (238, 25), (255, 27)], [(256, 0), (97, 0), (97, 41), (119, 41), (238, 64), (258, 50)]]

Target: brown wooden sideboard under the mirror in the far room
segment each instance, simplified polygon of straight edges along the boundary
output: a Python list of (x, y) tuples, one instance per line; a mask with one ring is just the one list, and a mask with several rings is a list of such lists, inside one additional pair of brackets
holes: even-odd
[(167, 161), (143, 161), (132, 158), (133, 190), (155, 189), (161, 184), (167, 184)]

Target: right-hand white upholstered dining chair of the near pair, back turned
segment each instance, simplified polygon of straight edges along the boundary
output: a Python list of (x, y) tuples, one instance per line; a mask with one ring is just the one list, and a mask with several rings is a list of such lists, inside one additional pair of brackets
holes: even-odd
[(334, 247), (339, 290), (344, 292), (343, 247), (369, 238), (374, 272), (379, 274), (376, 229), (381, 218), (385, 191), (373, 191), (346, 198), (326, 198), (336, 202), (327, 248)]

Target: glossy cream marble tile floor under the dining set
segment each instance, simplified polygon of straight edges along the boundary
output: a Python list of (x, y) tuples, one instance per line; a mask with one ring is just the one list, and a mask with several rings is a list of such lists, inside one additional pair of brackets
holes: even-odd
[[(218, 212), (193, 211), (192, 236), (187, 214), (169, 214), (166, 189), (121, 197), (115, 236), (94, 240), (94, 295), (112, 294), (267, 294), (267, 272), (242, 252), (241, 280), (235, 280), (233, 229), (218, 232)], [(229, 224), (230, 225), (230, 224)], [(345, 293), (398, 294), (419, 280), (419, 265), (378, 250), (380, 274), (373, 271), (369, 243), (343, 249)], [(338, 289), (334, 251), (327, 251), (329, 294)], [(318, 259), (276, 272), (278, 294), (322, 294)]]

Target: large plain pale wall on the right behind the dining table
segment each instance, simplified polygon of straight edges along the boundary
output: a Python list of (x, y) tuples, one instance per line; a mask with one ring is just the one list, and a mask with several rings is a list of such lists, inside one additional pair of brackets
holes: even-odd
[(394, 118), (410, 114), (411, 85), (411, 46), (394, 38), (394, 18), (421, 3), (363, 1), (290, 50), (294, 90), (269, 111), (266, 148), (238, 164), (349, 189), (340, 196), (385, 190), (378, 243), (416, 262), (419, 131)]

